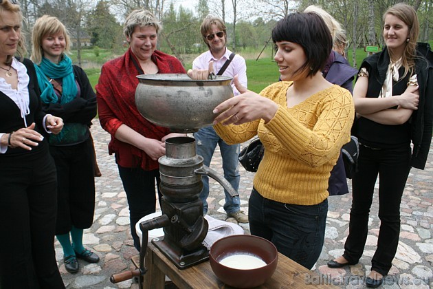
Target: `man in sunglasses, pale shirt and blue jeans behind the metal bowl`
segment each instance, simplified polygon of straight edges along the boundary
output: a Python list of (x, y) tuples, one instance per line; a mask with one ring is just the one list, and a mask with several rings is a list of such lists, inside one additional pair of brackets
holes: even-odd
[[(208, 16), (203, 20), (200, 27), (203, 41), (208, 45), (209, 50), (195, 58), (192, 63), (192, 69), (208, 69), (209, 63), (213, 61), (215, 74), (233, 78), (238, 76), (239, 82), (247, 87), (247, 65), (245, 59), (239, 55), (232, 55), (232, 52), (225, 46), (227, 42), (227, 33), (225, 24), (218, 17)], [(228, 62), (227, 62), (228, 61)], [(228, 65), (225, 65), (227, 62)], [(232, 84), (234, 95), (239, 92)], [(210, 161), (214, 154), (216, 144), (219, 145), (221, 156), (223, 158), (224, 178), (230, 182), (233, 188), (238, 191), (239, 180), (241, 176), (238, 172), (238, 154), (239, 144), (226, 144), (214, 131), (212, 126), (203, 127), (194, 133), (197, 146), (197, 154), (203, 157), (203, 164), (210, 166)], [(232, 197), (224, 190), (225, 204), (224, 210), (227, 217), (233, 217), (237, 222), (247, 223), (248, 216), (241, 211), (241, 201), (239, 197)], [(209, 195), (209, 178), (203, 175), (203, 191), (200, 199), (203, 201), (203, 214), (208, 213), (208, 202), (206, 199)]]

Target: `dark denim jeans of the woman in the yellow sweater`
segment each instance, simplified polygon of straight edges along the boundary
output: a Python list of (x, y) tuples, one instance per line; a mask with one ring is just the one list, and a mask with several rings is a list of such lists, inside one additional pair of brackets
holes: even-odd
[(313, 268), (324, 243), (328, 200), (304, 206), (249, 196), (249, 230), (272, 242), (278, 252), (306, 268)]

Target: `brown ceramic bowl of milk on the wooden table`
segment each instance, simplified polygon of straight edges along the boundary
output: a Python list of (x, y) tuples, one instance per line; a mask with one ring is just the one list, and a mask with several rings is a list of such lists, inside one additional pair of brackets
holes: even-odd
[(210, 247), (209, 261), (216, 277), (226, 285), (252, 288), (262, 285), (274, 274), (278, 251), (267, 239), (232, 235)]

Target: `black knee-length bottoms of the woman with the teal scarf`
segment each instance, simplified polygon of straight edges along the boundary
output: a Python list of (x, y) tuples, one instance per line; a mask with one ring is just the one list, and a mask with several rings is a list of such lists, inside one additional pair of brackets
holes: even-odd
[(95, 177), (92, 140), (71, 146), (50, 146), (56, 162), (58, 213), (56, 235), (67, 234), (72, 226), (90, 228), (95, 211)]

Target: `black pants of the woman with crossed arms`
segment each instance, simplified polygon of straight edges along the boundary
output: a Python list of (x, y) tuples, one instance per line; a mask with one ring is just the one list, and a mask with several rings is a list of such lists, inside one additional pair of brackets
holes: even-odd
[(344, 255), (355, 263), (362, 256), (368, 235), (368, 215), (379, 174), (379, 238), (371, 270), (387, 275), (397, 252), (400, 202), (410, 171), (410, 146), (371, 149), (359, 146), (359, 171), (352, 180), (353, 200)]

